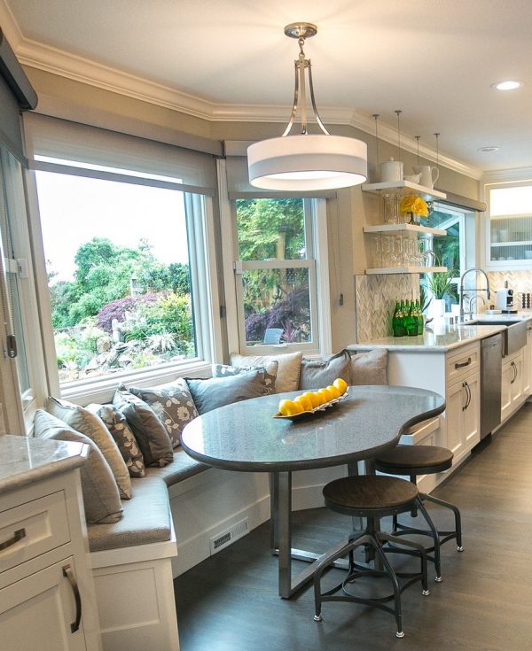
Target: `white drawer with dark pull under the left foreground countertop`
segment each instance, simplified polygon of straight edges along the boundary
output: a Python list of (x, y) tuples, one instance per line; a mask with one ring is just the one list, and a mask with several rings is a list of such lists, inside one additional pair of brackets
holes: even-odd
[(0, 513), (0, 573), (69, 540), (63, 491), (8, 508)]

